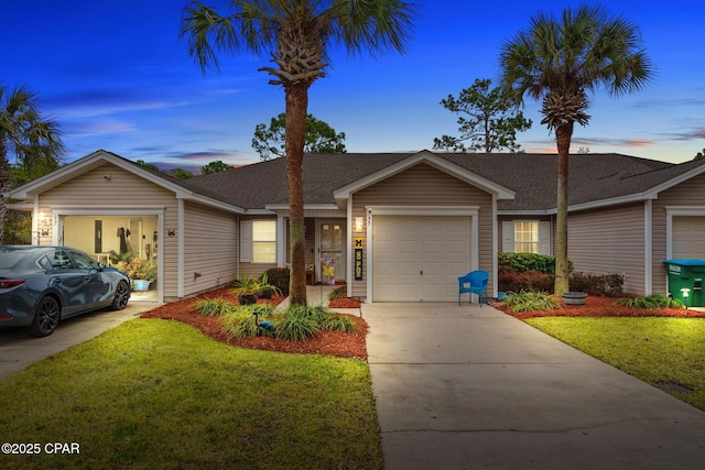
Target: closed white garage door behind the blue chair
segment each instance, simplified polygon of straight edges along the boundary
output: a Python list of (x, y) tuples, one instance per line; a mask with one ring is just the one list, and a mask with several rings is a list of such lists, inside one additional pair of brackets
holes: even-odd
[(469, 217), (375, 216), (372, 243), (373, 302), (457, 302)]

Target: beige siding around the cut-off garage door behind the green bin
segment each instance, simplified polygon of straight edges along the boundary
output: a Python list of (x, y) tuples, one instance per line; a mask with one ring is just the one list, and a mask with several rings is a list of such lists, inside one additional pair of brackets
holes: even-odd
[(666, 272), (663, 260), (666, 259), (666, 207), (705, 206), (705, 175), (695, 176), (659, 194), (652, 206), (653, 242), (653, 292), (665, 294)]

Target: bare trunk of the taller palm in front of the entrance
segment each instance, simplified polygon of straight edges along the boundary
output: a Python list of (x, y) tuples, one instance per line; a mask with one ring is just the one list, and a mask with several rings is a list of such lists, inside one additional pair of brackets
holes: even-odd
[(306, 305), (306, 264), (304, 226), (304, 144), (308, 84), (295, 83), (285, 88), (286, 128), (286, 182), (289, 184), (289, 240), (291, 254), (291, 278), (289, 303)]

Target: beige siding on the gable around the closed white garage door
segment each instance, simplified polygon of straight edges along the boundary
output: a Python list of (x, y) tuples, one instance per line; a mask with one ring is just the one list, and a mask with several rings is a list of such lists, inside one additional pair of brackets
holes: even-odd
[[(492, 273), (492, 196), (430, 165), (419, 164), (397, 175), (359, 190), (352, 196), (352, 222), (356, 217), (366, 218), (366, 206), (478, 206), (478, 266)], [(367, 223), (360, 231), (352, 227), (352, 238), (367, 239)], [(348, 260), (355, 266), (354, 240), (349, 241)], [(367, 297), (369, 247), (365, 243), (364, 280), (350, 280), (352, 296)], [(465, 273), (462, 273), (465, 274)], [(490, 280), (490, 285), (492, 281)]]

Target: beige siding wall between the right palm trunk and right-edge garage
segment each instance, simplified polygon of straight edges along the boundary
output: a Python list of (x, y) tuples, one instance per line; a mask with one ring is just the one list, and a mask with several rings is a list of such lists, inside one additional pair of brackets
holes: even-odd
[(578, 272), (625, 274), (625, 292), (643, 294), (643, 204), (571, 214), (568, 259)]

